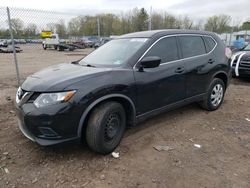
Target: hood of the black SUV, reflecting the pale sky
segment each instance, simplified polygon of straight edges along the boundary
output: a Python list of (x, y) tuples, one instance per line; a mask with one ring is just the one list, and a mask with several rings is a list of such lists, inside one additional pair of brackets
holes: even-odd
[(97, 77), (110, 71), (111, 68), (59, 64), (28, 76), (21, 87), (23, 90), (35, 92), (62, 91), (75, 82)]

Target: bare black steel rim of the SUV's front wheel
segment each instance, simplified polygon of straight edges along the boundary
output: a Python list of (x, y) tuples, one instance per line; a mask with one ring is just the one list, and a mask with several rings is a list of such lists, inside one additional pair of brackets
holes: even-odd
[(105, 141), (113, 140), (118, 135), (120, 127), (120, 116), (117, 113), (110, 114), (105, 125)]

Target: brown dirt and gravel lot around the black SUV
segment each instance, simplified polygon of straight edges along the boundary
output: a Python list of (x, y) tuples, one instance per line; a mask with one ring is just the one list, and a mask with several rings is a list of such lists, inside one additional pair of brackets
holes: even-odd
[[(79, 59), (90, 50), (44, 51), (24, 46), (24, 77)], [(250, 80), (232, 80), (215, 112), (196, 104), (128, 129), (120, 158), (83, 145), (40, 147), (26, 139), (14, 114), (16, 80), (11, 54), (0, 54), (0, 187), (250, 187)], [(197, 148), (194, 144), (201, 145)], [(172, 147), (157, 151), (154, 146)]]

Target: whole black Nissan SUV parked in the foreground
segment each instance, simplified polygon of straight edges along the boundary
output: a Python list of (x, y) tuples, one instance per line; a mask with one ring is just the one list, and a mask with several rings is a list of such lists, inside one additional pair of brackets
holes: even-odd
[(19, 127), (40, 145), (86, 140), (112, 152), (126, 126), (199, 102), (212, 111), (231, 77), (214, 33), (158, 30), (114, 39), (85, 58), (29, 76), (16, 95)]

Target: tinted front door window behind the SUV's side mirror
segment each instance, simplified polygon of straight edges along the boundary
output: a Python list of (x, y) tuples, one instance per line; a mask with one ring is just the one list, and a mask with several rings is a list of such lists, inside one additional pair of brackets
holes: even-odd
[(145, 55), (145, 57), (148, 56), (160, 57), (161, 63), (179, 59), (176, 37), (167, 37), (158, 41)]

